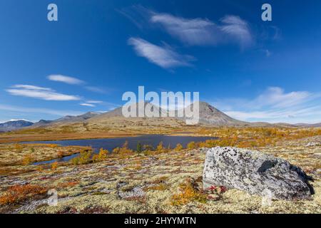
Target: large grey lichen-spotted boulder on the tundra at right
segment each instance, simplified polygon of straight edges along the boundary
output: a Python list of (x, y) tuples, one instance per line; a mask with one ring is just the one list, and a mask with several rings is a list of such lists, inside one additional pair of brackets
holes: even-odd
[(225, 186), (273, 199), (308, 199), (311, 177), (300, 167), (272, 155), (235, 147), (208, 150), (203, 171), (204, 190)]

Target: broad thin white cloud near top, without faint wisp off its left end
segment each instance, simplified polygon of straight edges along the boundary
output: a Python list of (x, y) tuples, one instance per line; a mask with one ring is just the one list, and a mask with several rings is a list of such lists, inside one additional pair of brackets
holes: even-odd
[(206, 46), (237, 42), (241, 47), (250, 46), (253, 36), (247, 21), (239, 16), (224, 16), (215, 24), (208, 19), (185, 19), (170, 14), (150, 11), (151, 22), (161, 24), (171, 36), (190, 46)]

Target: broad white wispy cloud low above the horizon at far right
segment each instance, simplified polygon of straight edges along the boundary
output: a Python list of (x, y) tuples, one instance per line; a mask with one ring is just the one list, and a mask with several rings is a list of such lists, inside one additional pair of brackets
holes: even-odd
[(233, 118), (270, 123), (321, 122), (321, 94), (307, 91), (286, 93), (280, 87), (269, 87), (250, 99), (228, 98), (213, 102)]

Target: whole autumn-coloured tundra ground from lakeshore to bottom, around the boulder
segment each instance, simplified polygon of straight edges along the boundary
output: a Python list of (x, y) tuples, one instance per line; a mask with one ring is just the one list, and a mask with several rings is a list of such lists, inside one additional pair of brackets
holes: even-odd
[[(220, 140), (152, 149), (126, 145), (91, 157), (88, 147), (0, 145), (0, 212), (2, 213), (321, 213), (320, 129), (213, 130)], [(205, 152), (200, 147), (248, 147), (282, 157), (314, 177), (310, 200), (273, 200), (217, 186), (202, 190)], [(64, 163), (32, 162), (71, 155)], [(47, 192), (56, 190), (58, 204)]]

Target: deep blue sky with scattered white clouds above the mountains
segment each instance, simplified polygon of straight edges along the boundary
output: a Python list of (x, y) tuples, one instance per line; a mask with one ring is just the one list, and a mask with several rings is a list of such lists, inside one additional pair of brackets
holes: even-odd
[[(272, 21), (261, 20), (263, 3)], [(47, 6), (58, 6), (58, 21)], [(0, 122), (200, 92), (240, 120), (321, 122), (320, 1), (0, 1)]]

